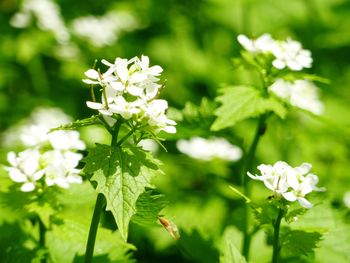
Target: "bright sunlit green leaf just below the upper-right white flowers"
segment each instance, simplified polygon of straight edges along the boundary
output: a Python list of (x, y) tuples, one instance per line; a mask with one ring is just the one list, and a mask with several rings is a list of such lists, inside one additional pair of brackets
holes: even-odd
[(222, 105), (214, 112), (217, 119), (211, 130), (218, 131), (235, 125), (237, 122), (258, 117), (273, 111), (284, 118), (286, 109), (273, 97), (263, 97), (261, 92), (249, 86), (232, 86), (220, 89), (222, 95), (216, 98)]

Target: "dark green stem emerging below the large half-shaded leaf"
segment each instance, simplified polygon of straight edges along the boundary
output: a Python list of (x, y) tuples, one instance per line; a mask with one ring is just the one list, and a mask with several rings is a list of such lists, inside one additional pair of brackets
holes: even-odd
[(104, 197), (101, 193), (99, 193), (97, 195), (95, 209), (92, 215), (92, 220), (91, 220), (91, 225), (89, 230), (88, 242), (86, 244), (85, 261), (84, 261), (85, 263), (92, 262), (92, 257), (94, 255), (97, 228), (98, 228), (98, 223), (100, 221), (103, 205), (104, 205)]

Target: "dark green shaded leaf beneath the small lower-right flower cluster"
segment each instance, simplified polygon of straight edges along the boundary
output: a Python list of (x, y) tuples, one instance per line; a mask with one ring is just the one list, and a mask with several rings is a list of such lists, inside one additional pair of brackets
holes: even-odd
[(307, 255), (317, 247), (317, 243), (321, 240), (321, 237), (322, 234), (319, 232), (306, 232), (284, 228), (280, 238), (282, 245), (281, 254), (284, 257)]

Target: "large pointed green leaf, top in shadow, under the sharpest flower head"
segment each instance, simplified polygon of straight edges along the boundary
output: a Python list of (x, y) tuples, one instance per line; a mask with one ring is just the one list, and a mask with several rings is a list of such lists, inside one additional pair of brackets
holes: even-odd
[(110, 147), (97, 144), (84, 159), (83, 171), (92, 174), (97, 192), (107, 201), (119, 231), (126, 241), (131, 217), (136, 213), (136, 202), (146, 187), (152, 187), (151, 178), (160, 172), (159, 162), (149, 152), (132, 146)]

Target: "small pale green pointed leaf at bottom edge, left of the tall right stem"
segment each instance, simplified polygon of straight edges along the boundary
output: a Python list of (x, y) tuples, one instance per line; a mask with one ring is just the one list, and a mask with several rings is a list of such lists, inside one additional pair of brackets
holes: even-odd
[(246, 263), (244, 256), (242, 256), (235, 245), (235, 234), (235, 231), (225, 231), (220, 263)]

